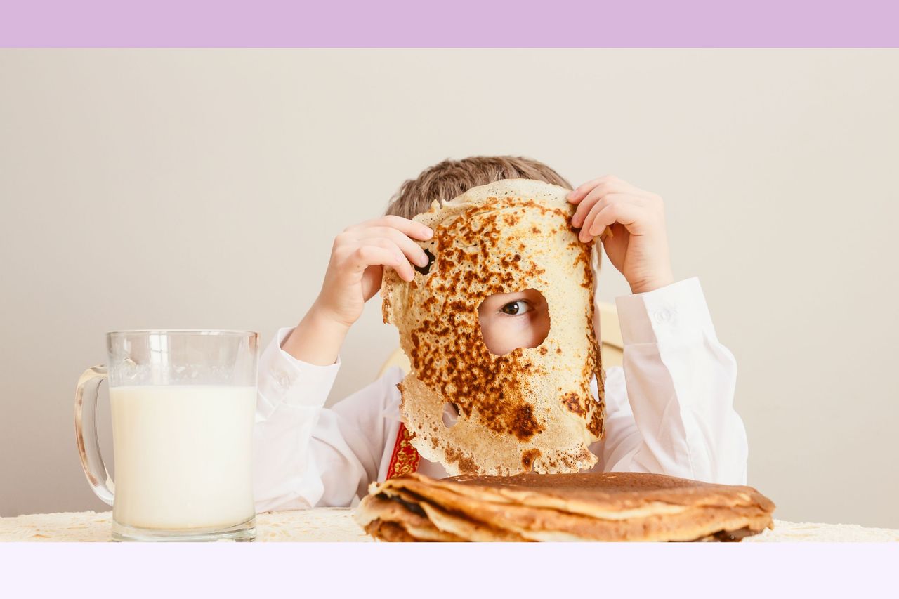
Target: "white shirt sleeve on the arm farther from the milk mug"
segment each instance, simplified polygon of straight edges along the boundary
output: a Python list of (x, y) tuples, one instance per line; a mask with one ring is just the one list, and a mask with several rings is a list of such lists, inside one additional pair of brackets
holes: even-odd
[(603, 469), (745, 484), (736, 361), (718, 342), (699, 280), (616, 303), (624, 359), (606, 376)]

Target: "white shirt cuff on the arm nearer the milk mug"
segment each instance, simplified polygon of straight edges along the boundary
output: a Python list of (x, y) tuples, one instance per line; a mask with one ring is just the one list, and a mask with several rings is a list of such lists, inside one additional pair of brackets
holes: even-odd
[(334, 386), (340, 357), (330, 366), (303, 362), (281, 349), (293, 327), (281, 328), (259, 360), (259, 397), (271, 413), (281, 404), (322, 407)]

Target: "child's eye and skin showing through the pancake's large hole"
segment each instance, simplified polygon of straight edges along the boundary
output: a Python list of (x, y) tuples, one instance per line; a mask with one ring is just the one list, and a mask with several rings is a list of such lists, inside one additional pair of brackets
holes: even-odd
[(494, 293), (481, 302), (477, 316), (484, 344), (494, 355), (537, 347), (549, 334), (547, 300), (534, 289)]

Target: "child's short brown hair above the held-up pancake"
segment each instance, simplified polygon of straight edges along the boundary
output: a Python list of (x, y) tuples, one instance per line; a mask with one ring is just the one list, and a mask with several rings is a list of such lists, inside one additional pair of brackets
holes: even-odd
[(452, 200), (472, 187), (501, 179), (537, 179), (571, 189), (571, 183), (542, 162), (522, 156), (469, 156), (444, 160), (400, 185), (390, 199), (387, 214), (413, 218), (434, 200)]

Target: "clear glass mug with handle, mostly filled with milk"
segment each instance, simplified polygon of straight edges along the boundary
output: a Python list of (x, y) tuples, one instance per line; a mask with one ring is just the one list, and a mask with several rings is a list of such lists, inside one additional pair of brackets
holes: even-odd
[[(259, 335), (118, 331), (106, 335), (106, 349), (109, 366), (78, 380), (75, 429), (87, 480), (112, 505), (112, 540), (253, 541)], [(114, 485), (97, 443), (102, 380)]]

